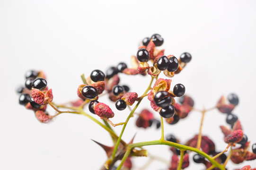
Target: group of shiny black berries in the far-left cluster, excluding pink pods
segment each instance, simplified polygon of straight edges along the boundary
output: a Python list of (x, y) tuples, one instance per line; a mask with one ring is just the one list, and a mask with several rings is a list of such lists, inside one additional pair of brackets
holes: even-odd
[(18, 93), (21, 93), (19, 96), (19, 104), (26, 106), (26, 104), (29, 102), (30, 105), (38, 109), (41, 105), (37, 104), (34, 99), (30, 96), (31, 92), (30, 90), (32, 88), (38, 89), (38, 90), (44, 90), (47, 86), (47, 82), (44, 78), (36, 78), (38, 76), (38, 72), (35, 70), (29, 70), (26, 72), (25, 77), (25, 87), (20, 86), (17, 89)]

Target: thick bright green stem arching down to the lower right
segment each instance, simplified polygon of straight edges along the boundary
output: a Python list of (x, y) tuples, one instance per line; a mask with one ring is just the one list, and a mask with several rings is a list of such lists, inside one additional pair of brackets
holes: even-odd
[(169, 142), (169, 141), (166, 141), (166, 140), (164, 140), (164, 141), (154, 140), (154, 141), (147, 141), (147, 142), (139, 142), (139, 143), (134, 143), (134, 144), (128, 144), (128, 146), (130, 148), (134, 148), (134, 147), (142, 147), (142, 146), (158, 145), (158, 144), (176, 147), (177, 149), (180, 149), (180, 150), (193, 151), (195, 153), (198, 153), (198, 154), (202, 155), (204, 158), (208, 159), (212, 163), (212, 165), (214, 165), (215, 167), (218, 167), (221, 170), (225, 170), (225, 168), (221, 164), (219, 164), (217, 161), (213, 160), (212, 157), (209, 156), (208, 154), (204, 153), (203, 151), (200, 151), (197, 148), (186, 146), (186, 145), (183, 145), (183, 144), (177, 144), (177, 143)]

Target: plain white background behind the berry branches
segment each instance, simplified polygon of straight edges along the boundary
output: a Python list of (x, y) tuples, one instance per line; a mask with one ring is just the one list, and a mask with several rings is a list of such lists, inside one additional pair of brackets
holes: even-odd
[[(256, 143), (255, 8), (254, 0), (0, 0), (0, 169), (99, 169), (106, 155), (90, 139), (111, 145), (103, 128), (81, 115), (69, 114), (41, 124), (31, 110), (18, 104), (15, 88), (24, 84), (26, 70), (44, 70), (54, 102), (75, 100), (82, 73), (89, 76), (93, 69), (106, 71), (121, 61), (131, 66), (130, 57), (138, 43), (154, 33), (164, 38), (160, 49), (166, 49), (167, 55), (192, 54), (191, 62), (174, 76), (172, 86), (184, 84), (198, 109), (214, 106), (222, 94), (237, 93), (240, 102), (234, 114), (248, 139)], [(149, 76), (121, 77), (121, 84), (130, 85), (139, 95), (149, 81)], [(116, 110), (106, 97), (102, 102), (114, 110), (115, 123), (129, 114), (128, 110)], [(138, 111), (143, 108), (150, 108), (146, 99)], [(200, 113), (192, 112), (177, 125), (166, 124), (165, 134), (175, 134), (185, 143), (198, 133), (200, 119)], [(203, 125), (203, 135), (213, 139), (218, 151), (226, 147), (219, 128), (226, 125), (225, 119), (226, 115), (214, 110), (206, 114)], [(134, 142), (159, 139), (160, 130), (139, 129), (134, 124), (131, 119), (124, 141), (129, 142), (136, 132)], [(115, 127), (117, 134), (121, 128)], [(167, 146), (145, 148), (170, 160)], [(133, 159), (133, 170), (147, 160)], [(256, 167), (256, 161), (241, 165), (230, 162), (228, 167), (247, 164)], [(153, 161), (149, 170), (166, 168)]]

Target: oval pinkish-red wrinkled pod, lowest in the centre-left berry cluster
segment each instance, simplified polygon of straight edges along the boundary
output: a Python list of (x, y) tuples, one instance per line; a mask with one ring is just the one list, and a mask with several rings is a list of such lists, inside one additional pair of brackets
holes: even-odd
[(101, 119), (113, 118), (115, 116), (114, 112), (110, 107), (102, 102), (98, 102), (95, 105), (95, 114), (97, 114)]

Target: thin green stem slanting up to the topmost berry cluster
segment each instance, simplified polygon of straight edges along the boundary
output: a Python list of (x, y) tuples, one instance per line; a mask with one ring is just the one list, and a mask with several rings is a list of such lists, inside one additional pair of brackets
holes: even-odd
[[(146, 90), (142, 95), (148, 93), (148, 91), (149, 91), (150, 88), (151, 88), (153, 79), (154, 79), (154, 77), (152, 76), (152, 77), (151, 77), (151, 81), (150, 81), (150, 85), (148, 86), (147, 90)], [(125, 127), (126, 127), (128, 121), (129, 121), (129, 119), (132, 117), (133, 112), (137, 109), (137, 107), (138, 107), (139, 104), (141, 103), (141, 100), (142, 100), (142, 99), (143, 99), (143, 98), (141, 98), (141, 99), (139, 100), (139, 102), (138, 102), (138, 103), (136, 104), (136, 106), (132, 109), (131, 113), (129, 114), (129, 116), (127, 117), (126, 121), (124, 122), (124, 127), (122, 128), (121, 134), (120, 134), (120, 136), (118, 137), (118, 139), (117, 139), (117, 141), (116, 141), (115, 148), (114, 148), (113, 153), (112, 153), (112, 160), (114, 160), (114, 158), (115, 158), (115, 153), (116, 153), (116, 151), (117, 151), (117, 147), (118, 147), (118, 145), (119, 145), (119, 143), (120, 143), (121, 137), (123, 136), (124, 129), (125, 129)]]

